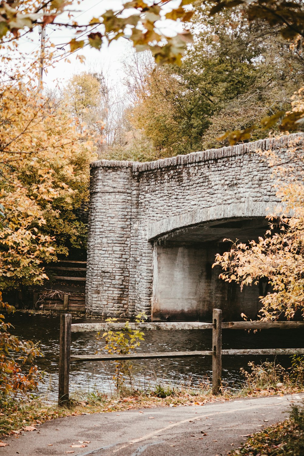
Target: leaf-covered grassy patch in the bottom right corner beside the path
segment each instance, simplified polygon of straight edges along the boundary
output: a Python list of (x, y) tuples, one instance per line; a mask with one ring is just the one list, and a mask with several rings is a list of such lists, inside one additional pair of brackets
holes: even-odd
[(252, 434), (230, 456), (303, 456), (304, 455), (304, 401), (292, 405), (289, 418)]

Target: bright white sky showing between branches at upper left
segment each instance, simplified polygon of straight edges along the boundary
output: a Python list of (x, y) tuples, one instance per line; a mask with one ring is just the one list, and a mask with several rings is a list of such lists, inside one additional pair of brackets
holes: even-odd
[[(119, 10), (120, 6), (125, 0), (82, 0), (80, 5), (73, 7), (74, 13), (73, 18), (78, 24), (86, 24), (93, 17), (99, 17), (103, 12), (109, 9)], [(176, 6), (177, 0), (170, 2), (171, 6)], [(170, 10), (171, 8), (168, 8)], [(67, 20), (67, 15), (58, 16), (55, 22)], [(72, 23), (72, 19), (70, 20)], [(162, 30), (169, 35), (174, 35), (176, 31), (181, 31), (181, 24), (176, 24), (173, 21), (166, 21), (165, 28)], [(102, 31), (102, 26), (100, 26)], [(98, 28), (94, 31), (98, 31)], [(47, 72), (43, 75), (43, 81), (46, 86), (54, 87), (57, 83), (60, 85), (71, 78), (74, 73), (87, 71), (94, 69), (96, 71), (103, 69), (108, 73), (110, 81), (114, 85), (120, 86), (120, 81), (124, 77), (122, 73), (122, 62), (124, 59), (128, 59), (132, 55), (132, 46), (129, 41), (125, 38), (119, 38), (117, 41), (113, 41), (110, 46), (106, 43), (103, 44), (100, 51), (93, 49), (89, 46), (79, 49), (68, 57), (65, 52), (69, 50), (69, 45), (65, 45), (73, 37), (73, 31), (67, 27), (59, 27), (54, 24), (46, 26), (46, 39), (49, 39), (55, 44), (56, 47), (64, 47), (64, 50), (57, 50), (56, 56), (67, 57), (71, 63), (65, 61), (62, 58), (59, 62), (54, 64), (53, 68), (48, 68)], [(85, 36), (84, 36), (85, 37)], [(40, 36), (38, 27), (33, 32), (20, 38), (21, 52), (25, 52), (29, 59), (33, 58), (34, 53), (40, 49)], [(82, 64), (79, 59), (76, 58), (77, 54), (84, 55), (85, 62)]]

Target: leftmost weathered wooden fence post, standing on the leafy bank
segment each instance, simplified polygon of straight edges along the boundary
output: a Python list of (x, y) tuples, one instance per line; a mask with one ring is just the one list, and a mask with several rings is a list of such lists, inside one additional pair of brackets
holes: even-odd
[(72, 315), (61, 314), (59, 337), (59, 387), (58, 405), (67, 404), (69, 400), (69, 374), (71, 354)]

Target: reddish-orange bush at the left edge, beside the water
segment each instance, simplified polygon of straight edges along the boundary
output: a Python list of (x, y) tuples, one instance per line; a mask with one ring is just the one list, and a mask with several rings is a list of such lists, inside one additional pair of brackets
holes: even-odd
[[(14, 312), (14, 307), (2, 301), (0, 293), (0, 308), (7, 313)], [(22, 341), (10, 334), (10, 323), (0, 315), (0, 405), (3, 406), (15, 399), (17, 395), (25, 395), (37, 389), (42, 374), (33, 360), (41, 356), (37, 344)], [(27, 368), (27, 366), (29, 366)]]

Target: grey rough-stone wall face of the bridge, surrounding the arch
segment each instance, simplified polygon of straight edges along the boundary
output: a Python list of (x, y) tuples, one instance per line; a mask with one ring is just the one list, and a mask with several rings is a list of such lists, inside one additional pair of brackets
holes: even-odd
[[(170, 241), (188, 249), (197, 244), (200, 249), (208, 241), (204, 236), (212, 221), (264, 218), (277, 198), (272, 171), (257, 150), (284, 154), (296, 138), (302, 142), (303, 134), (147, 163), (92, 163), (88, 311), (133, 316), (144, 310), (151, 315), (151, 306), (156, 310), (159, 299), (157, 245), (163, 249), (162, 264), (170, 268), (170, 261), (163, 261), (166, 254), (172, 258), (173, 245), (170, 251), (164, 250)], [(232, 228), (227, 224), (223, 229), (221, 233), (230, 233)], [(212, 242), (216, 243), (214, 230)], [(164, 277), (170, 294), (170, 274)], [(180, 277), (182, 281), (183, 274)]]

